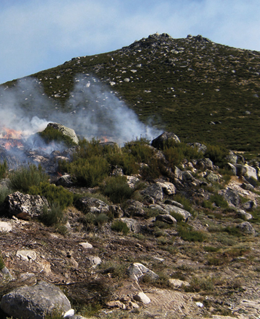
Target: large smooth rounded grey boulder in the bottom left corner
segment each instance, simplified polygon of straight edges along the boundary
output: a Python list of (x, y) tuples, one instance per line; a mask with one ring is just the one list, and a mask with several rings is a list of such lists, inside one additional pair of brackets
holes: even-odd
[(22, 286), (2, 296), (1, 309), (17, 319), (44, 319), (54, 309), (65, 312), (71, 304), (65, 294), (53, 284), (41, 281), (34, 286)]

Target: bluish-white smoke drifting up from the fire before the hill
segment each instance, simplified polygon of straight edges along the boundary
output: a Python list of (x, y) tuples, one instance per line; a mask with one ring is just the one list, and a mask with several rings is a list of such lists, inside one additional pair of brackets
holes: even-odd
[(58, 122), (86, 139), (104, 138), (123, 145), (135, 138), (152, 140), (160, 132), (142, 123), (137, 115), (97, 79), (79, 75), (65, 105), (64, 113), (55, 99), (45, 95), (40, 81), (24, 78), (14, 87), (0, 88), (0, 127), (29, 136), (42, 131), (49, 122)]

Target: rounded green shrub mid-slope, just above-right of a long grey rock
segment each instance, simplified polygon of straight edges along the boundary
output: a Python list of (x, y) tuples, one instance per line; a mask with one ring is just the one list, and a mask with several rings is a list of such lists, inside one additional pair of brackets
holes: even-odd
[(129, 199), (135, 189), (130, 188), (125, 176), (112, 176), (107, 178), (102, 185), (102, 192), (113, 203), (122, 203)]

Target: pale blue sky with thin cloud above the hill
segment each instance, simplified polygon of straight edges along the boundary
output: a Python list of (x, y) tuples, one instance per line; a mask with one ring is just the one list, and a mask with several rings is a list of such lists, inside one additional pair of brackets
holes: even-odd
[(260, 0), (0, 0), (0, 83), (156, 32), (260, 51)]

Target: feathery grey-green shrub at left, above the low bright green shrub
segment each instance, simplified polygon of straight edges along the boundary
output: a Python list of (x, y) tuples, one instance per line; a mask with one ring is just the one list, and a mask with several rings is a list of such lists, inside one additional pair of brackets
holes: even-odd
[(27, 193), (31, 186), (39, 186), (48, 181), (48, 175), (35, 165), (22, 166), (9, 174), (10, 188)]

